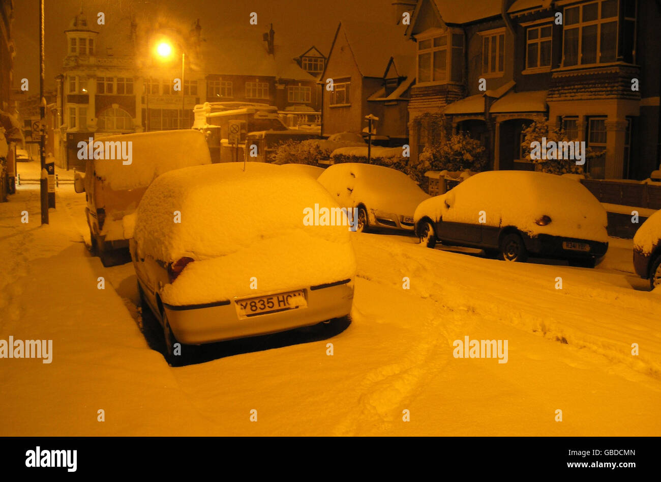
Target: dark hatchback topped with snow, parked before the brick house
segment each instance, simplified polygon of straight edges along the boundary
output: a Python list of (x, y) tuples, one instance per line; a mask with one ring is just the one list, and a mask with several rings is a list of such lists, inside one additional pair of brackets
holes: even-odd
[(420, 242), (481, 248), (507, 261), (528, 254), (594, 267), (608, 249), (606, 211), (567, 177), (530, 171), (473, 175), (418, 206)]

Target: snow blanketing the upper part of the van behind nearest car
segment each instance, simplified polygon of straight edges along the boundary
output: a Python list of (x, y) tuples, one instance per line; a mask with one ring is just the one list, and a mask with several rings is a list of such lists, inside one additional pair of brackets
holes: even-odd
[(198, 130), (161, 130), (97, 140), (132, 142), (131, 164), (123, 164), (122, 159), (89, 161), (94, 164), (95, 174), (115, 191), (147, 187), (156, 177), (172, 169), (211, 164), (204, 134)]

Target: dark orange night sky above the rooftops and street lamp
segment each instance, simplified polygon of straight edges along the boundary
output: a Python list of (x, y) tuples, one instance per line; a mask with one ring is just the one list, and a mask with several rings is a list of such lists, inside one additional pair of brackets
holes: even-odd
[[(256, 28), (260, 33), (274, 24), (276, 43), (301, 47), (301, 54), (313, 44), (328, 55), (332, 37), (342, 19), (371, 19), (390, 22), (393, 19), (392, 0), (85, 0), (83, 11), (93, 30), (112, 28), (116, 17), (128, 17), (132, 12), (138, 21), (152, 22), (166, 18), (180, 21), (186, 28), (200, 19), (202, 36), (208, 39), (229, 35), (235, 30)], [(26, 77), (38, 85), (39, 76), (39, 2), (15, 0), (13, 38), (17, 48), (13, 87)], [(46, 88), (55, 85), (54, 77), (61, 72), (66, 55), (64, 30), (78, 13), (80, 0), (46, 0)], [(97, 13), (104, 12), (106, 24), (97, 25)], [(258, 14), (258, 24), (249, 25), (251, 12)], [(375, 44), (378, 41), (375, 39)], [(102, 52), (100, 52), (102, 53)], [(116, 52), (119, 54), (119, 52)], [(33, 80), (34, 79), (34, 80)]]

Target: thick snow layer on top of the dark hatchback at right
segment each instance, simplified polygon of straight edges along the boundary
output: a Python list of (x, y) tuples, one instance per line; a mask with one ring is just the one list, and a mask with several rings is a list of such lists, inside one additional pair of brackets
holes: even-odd
[[(559, 175), (526, 171), (488, 171), (469, 177), (444, 195), (418, 206), (414, 220), (516, 226), (532, 236), (551, 234), (607, 242), (606, 211), (581, 183)], [(535, 220), (551, 217), (547, 226)]]

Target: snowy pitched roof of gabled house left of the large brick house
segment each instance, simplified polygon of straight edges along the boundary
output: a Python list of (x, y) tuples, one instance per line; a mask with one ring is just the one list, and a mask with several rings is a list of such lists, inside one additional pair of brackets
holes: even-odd
[[(393, 58), (400, 76), (414, 75), (415, 44), (404, 33), (404, 28), (396, 24), (342, 21), (335, 32), (329, 60), (338, 38), (344, 36), (363, 77), (383, 78)], [(326, 67), (322, 75), (325, 70)]]

